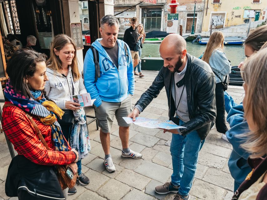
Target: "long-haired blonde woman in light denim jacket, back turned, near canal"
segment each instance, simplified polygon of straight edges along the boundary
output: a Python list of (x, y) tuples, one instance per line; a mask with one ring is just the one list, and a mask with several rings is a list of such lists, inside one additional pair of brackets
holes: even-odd
[(212, 71), (215, 74), (215, 99), (216, 99), (216, 109), (217, 117), (215, 121), (216, 129), (222, 134), (222, 138), (226, 141), (225, 136), (228, 128), (225, 124), (225, 105), (224, 105), (224, 93), (223, 93), (223, 80), (231, 72), (231, 64), (223, 53), (223, 33), (220, 31), (215, 31), (209, 38), (207, 47), (203, 54), (202, 60), (210, 65)]

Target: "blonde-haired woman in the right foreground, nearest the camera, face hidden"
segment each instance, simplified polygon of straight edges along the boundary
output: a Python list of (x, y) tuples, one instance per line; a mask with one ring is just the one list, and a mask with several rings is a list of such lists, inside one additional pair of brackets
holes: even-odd
[(248, 163), (252, 171), (232, 200), (267, 199), (267, 48), (264, 47), (242, 66), (243, 106), (250, 132), (243, 134), (247, 141), (241, 146), (251, 154)]

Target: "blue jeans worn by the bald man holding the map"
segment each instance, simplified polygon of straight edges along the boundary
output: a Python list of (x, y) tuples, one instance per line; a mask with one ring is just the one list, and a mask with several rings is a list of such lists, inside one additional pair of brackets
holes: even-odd
[[(180, 125), (184, 122), (180, 120)], [(172, 184), (180, 186), (178, 193), (187, 196), (195, 176), (198, 152), (205, 140), (201, 140), (197, 131), (192, 131), (186, 136), (172, 134), (171, 155), (172, 155)]]

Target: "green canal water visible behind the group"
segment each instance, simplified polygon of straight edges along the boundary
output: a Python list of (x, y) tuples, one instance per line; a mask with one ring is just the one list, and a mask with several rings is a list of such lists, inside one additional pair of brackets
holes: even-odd
[[(159, 53), (160, 43), (144, 43), (142, 48), (143, 57), (160, 57)], [(199, 57), (205, 51), (206, 45), (200, 45), (198, 43), (187, 42), (187, 52), (193, 56)], [(245, 60), (244, 47), (242, 45), (225, 45), (224, 53), (228, 60), (231, 61), (231, 65), (239, 65), (241, 61)]]

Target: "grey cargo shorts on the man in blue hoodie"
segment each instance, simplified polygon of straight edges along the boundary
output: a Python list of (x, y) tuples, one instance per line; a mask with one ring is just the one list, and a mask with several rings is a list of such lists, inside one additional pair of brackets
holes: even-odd
[(122, 117), (127, 117), (131, 113), (131, 95), (129, 94), (122, 102), (106, 102), (102, 101), (102, 104), (95, 107), (95, 117), (98, 126), (104, 133), (110, 133), (114, 115), (117, 119), (118, 125), (121, 127), (129, 127), (131, 124), (127, 124)]

